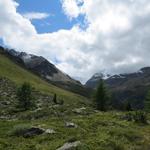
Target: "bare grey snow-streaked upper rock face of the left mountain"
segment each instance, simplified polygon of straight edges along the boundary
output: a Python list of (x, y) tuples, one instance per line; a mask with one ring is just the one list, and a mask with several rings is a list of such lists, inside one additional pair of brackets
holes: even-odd
[(36, 56), (32, 54), (27, 54), (25, 52), (17, 52), (15, 50), (6, 49), (7, 53), (14, 59), (19, 60), (22, 64), (29, 70), (33, 71), (35, 74), (49, 80), (49, 81), (64, 81), (75, 84), (80, 84), (78, 81), (72, 79), (67, 74), (60, 71), (52, 63), (46, 60), (42, 56)]

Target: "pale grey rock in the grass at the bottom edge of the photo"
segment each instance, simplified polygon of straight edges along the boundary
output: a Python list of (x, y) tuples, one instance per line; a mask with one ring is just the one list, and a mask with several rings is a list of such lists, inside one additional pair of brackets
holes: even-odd
[(65, 143), (62, 147), (58, 148), (57, 150), (71, 150), (72, 148), (76, 148), (79, 145), (81, 145), (80, 141)]

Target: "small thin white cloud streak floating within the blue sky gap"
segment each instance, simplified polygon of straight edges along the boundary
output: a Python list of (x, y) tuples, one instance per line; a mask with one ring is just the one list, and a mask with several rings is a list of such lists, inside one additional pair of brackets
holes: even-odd
[(41, 13), (41, 12), (27, 12), (24, 13), (23, 16), (29, 20), (33, 20), (33, 19), (46, 19), (50, 15), (48, 13)]

